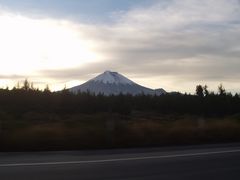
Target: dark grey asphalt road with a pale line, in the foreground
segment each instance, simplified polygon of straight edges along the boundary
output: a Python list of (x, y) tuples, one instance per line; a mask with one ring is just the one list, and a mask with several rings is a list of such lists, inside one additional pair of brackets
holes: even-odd
[(0, 153), (1, 180), (239, 180), (240, 144)]

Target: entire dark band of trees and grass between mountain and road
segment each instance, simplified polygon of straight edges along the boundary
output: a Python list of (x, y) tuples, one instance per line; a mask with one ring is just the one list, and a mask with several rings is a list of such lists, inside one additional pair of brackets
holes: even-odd
[(162, 96), (0, 90), (0, 151), (77, 150), (240, 141), (240, 97), (208, 92)]

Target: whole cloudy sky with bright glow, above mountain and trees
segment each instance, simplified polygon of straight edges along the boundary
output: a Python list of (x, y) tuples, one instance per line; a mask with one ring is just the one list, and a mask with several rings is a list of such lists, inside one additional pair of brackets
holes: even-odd
[(0, 87), (70, 88), (105, 70), (240, 92), (240, 0), (0, 0)]

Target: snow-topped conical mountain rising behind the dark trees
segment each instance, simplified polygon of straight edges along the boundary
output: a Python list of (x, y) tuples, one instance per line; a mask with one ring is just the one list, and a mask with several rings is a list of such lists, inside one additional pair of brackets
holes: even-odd
[(145, 95), (162, 95), (164, 89), (150, 89), (141, 86), (118, 72), (105, 71), (93, 79), (69, 89), (70, 92), (90, 92), (91, 94), (118, 95), (118, 94), (145, 94)]

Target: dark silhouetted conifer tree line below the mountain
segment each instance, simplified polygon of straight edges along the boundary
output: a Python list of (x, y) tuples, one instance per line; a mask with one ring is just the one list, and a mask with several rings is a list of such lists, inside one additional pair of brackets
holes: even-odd
[(27, 112), (57, 114), (119, 113), (130, 115), (134, 111), (223, 116), (240, 113), (240, 96), (227, 92), (219, 85), (218, 92), (209, 92), (206, 85), (197, 85), (195, 94), (167, 93), (161, 96), (140, 94), (110, 95), (79, 92), (67, 89), (51, 92), (34, 88), (24, 81), (20, 87), (0, 89), (0, 113), (21, 116)]

